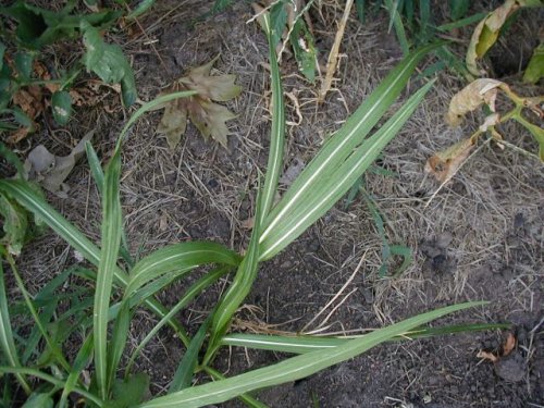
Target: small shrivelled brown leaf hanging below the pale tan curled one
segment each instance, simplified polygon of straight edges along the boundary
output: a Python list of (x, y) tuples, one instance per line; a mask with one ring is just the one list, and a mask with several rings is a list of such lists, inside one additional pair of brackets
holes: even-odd
[(473, 147), (474, 140), (468, 138), (438, 151), (426, 161), (425, 172), (433, 174), (441, 183), (448, 181), (457, 173)]

